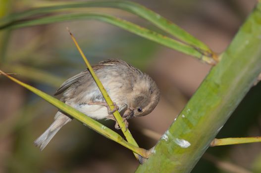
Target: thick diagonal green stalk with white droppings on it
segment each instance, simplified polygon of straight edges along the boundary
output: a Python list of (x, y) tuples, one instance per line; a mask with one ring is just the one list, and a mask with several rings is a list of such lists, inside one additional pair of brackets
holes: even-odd
[(261, 2), (136, 173), (189, 173), (261, 73)]

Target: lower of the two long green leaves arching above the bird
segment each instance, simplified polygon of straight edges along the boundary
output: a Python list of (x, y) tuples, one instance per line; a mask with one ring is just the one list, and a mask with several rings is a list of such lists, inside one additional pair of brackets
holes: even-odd
[[(209, 56), (203, 55), (200, 51), (198, 51), (196, 48), (194, 48), (190, 45), (181, 43), (179, 41), (173, 40), (166, 36), (160, 35), (149, 29), (140, 27), (136, 24), (133, 24), (126, 20), (122, 20), (122, 19), (116, 18), (114, 16), (110, 16), (110, 15), (96, 14), (96, 13), (61, 14), (61, 15), (49, 16), (49, 17), (44, 17), (44, 18), (35, 19), (35, 20), (15, 22), (12, 25), (9, 25), (9, 26), (6, 25), (4, 27), (16, 29), (16, 28), (21, 28), (21, 27), (50, 24), (50, 23), (63, 22), (63, 21), (68, 21), (68, 20), (79, 20), (79, 19), (100, 20), (100, 21), (118, 26), (120, 28), (123, 28), (129, 32), (132, 32), (136, 35), (139, 35), (141, 37), (144, 37), (146, 39), (149, 39), (151, 41), (164, 45), (166, 47), (169, 47), (169, 48), (175, 49), (177, 51), (186, 53), (188, 55), (197, 57), (209, 64), (215, 63), (215, 61), (212, 58), (210, 58)], [(0, 26), (0, 29), (1, 29), (1, 26)]]

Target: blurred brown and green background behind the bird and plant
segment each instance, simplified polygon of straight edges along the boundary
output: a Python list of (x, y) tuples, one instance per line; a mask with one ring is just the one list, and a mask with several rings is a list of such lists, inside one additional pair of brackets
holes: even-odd
[[(225, 50), (257, 3), (257, 0), (135, 1), (178, 24), (218, 53)], [(17, 12), (56, 2), (61, 1), (7, 0), (6, 10)], [(107, 8), (88, 11), (113, 14), (161, 32), (128, 12)], [(15, 69), (21, 74), (17, 76), (20, 80), (53, 94), (64, 80), (86, 68), (66, 26), (93, 64), (108, 58), (123, 59), (156, 80), (161, 90), (157, 108), (150, 115), (129, 122), (135, 139), (146, 149), (153, 147), (158, 139), (146, 131), (162, 134), (211, 68), (117, 27), (88, 20), (1, 32), (0, 69), (9, 73)], [(55, 78), (41, 76), (43, 73)], [(260, 98), (259, 84), (251, 89), (218, 137), (261, 135)], [(63, 127), (41, 152), (33, 141), (49, 127), (56, 111), (35, 94), (0, 77), (0, 173), (135, 171), (138, 162), (131, 151), (75, 120)], [(101, 122), (114, 129), (114, 122)], [(261, 143), (209, 148), (193, 170), (193, 173), (251, 172), (261, 173)]]

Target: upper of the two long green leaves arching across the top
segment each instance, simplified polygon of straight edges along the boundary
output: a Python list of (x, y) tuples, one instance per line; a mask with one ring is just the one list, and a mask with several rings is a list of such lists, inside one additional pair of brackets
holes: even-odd
[(21, 13), (13, 14), (5, 18), (0, 22), (0, 25), (6, 25), (7, 23), (14, 22), (16, 20), (21, 20), (26, 17), (33, 17), (40, 14), (57, 12), (58, 10), (64, 10), (68, 8), (84, 8), (84, 7), (111, 7), (111, 8), (118, 8), (118, 9), (129, 11), (135, 15), (138, 15), (150, 21), (158, 28), (171, 34), (172, 36), (183, 41), (184, 43), (190, 44), (194, 47), (197, 47), (199, 49), (211, 53), (211, 50), (206, 44), (202, 43), (201, 41), (199, 41), (198, 39), (196, 39), (195, 37), (187, 33), (185, 30), (183, 30), (176, 24), (165, 19), (164, 17), (160, 16), (156, 12), (144, 7), (143, 5), (140, 5), (132, 1), (125, 1), (125, 0), (74, 2), (74, 3), (64, 4), (64, 5), (54, 5), (49, 7), (30, 9)]

